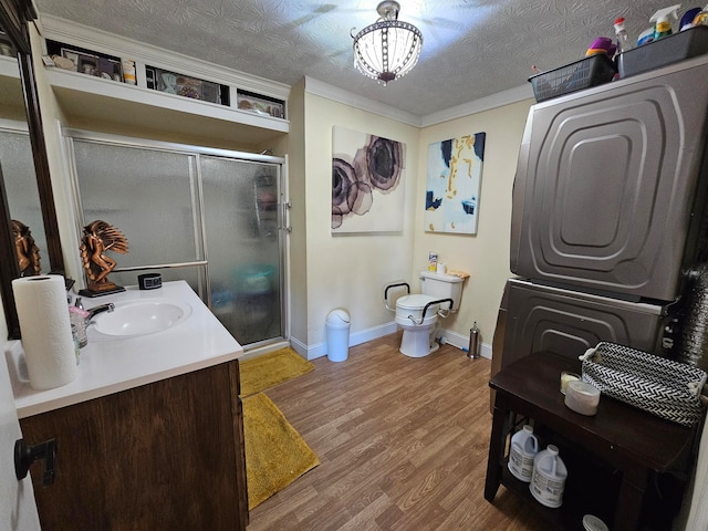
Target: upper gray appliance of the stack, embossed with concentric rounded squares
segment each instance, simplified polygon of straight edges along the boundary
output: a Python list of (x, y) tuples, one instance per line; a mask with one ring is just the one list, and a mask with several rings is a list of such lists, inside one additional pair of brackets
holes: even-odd
[(513, 190), (511, 270), (674, 301), (708, 181), (708, 59), (531, 107)]

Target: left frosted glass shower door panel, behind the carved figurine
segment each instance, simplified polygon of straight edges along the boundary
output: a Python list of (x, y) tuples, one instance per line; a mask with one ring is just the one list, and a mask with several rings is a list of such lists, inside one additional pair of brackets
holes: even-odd
[[(114, 256), (116, 269), (202, 260), (196, 155), (144, 146), (73, 139), (83, 221), (102, 219), (128, 240), (128, 253)], [(137, 284), (143, 270), (111, 273), (121, 285)], [(163, 281), (186, 280), (200, 293), (200, 266), (158, 270)]]

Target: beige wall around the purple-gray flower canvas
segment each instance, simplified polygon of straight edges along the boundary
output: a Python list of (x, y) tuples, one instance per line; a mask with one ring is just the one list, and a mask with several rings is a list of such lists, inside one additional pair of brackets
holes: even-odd
[[(332, 235), (332, 127), (369, 133), (406, 144), (404, 230), (400, 233)], [(393, 321), (384, 287), (410, 280), (419, 129), (305, 92), (308, 334), (293, 336), (311, 350), (325, 337), (325, 319), (336, 308), (350, 312), (351, 334)], [(294, 280), (298, 281), (298, 280)], [(299, 311), (299, 309), (293, 309)], [(315, 355), (321, 355), (319, 351)]]

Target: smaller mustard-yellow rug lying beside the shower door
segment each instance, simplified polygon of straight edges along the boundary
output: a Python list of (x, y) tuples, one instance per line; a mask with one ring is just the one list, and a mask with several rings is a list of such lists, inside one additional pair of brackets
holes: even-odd
[(241, 396), (254, 395), (309, 373), (314, 365), (290, 347), (239, 363)]

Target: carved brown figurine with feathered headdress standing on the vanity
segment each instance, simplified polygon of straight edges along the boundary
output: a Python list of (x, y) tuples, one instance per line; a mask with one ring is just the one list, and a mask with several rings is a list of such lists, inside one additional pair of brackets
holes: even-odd
[(86, 270), (88, 295), (115, 293), (124, 291), (111, 282), (107, 277), (115, 269), (116, 261), (107, 257), (106, 251), (121, 254), (128, 252), (128, 240), (118, 229), (102, 220), (92, 221), (84, 227), (84, 236), (81, 243), (81, 258)]

